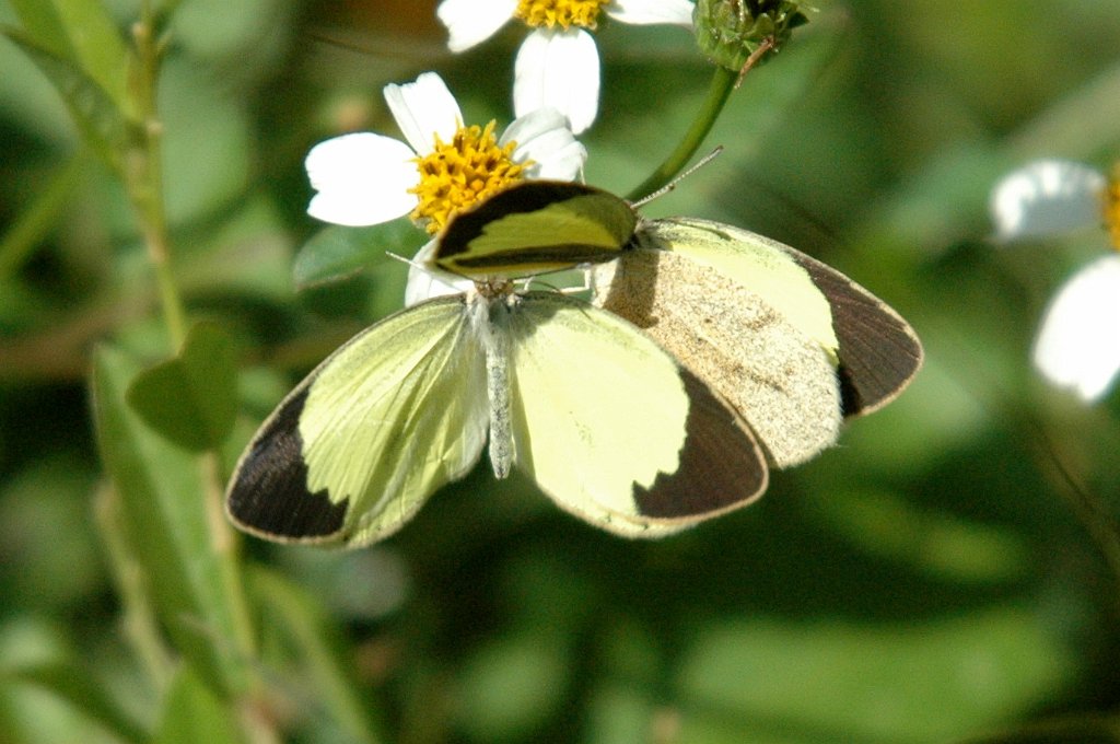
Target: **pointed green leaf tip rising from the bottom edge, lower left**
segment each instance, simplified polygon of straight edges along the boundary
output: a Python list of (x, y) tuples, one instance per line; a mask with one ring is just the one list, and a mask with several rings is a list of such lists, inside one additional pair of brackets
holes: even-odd
[(183, 667), (164, 699), (156, 744), (224, 744), (244, 742), (234, 708), (224, 705), (192, 671)]

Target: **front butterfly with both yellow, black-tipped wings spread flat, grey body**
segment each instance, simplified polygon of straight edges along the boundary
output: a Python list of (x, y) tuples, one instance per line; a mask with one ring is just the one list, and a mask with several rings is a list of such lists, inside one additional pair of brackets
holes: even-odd
[(488, 278), (384, 318), (320, 363), (253, 437), (226, 511), (272, 540), (367, 545), (465, 476), (487, 439), (496, 476), (517, 468), (625, 537), (676, 532), (766, 487), (743, 418), (646, 334)]

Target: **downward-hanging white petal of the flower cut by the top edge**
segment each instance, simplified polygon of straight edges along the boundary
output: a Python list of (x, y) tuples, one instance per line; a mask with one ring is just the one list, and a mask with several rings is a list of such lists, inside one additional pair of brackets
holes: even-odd
[(582, 29), (536, 29), (517, 52), (514, 65), (513, 110), (522, 117), (552, 108), (579, 134), (591, 125), (599, 109), (599, 50)]

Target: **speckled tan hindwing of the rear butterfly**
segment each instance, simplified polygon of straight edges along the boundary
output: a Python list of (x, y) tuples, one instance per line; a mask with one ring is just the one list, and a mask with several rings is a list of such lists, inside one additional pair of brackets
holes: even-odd
[(635, 249), (596, 271), (596, 304), (643, 328), (750, 424), (788, 467), (840, 430), (836, 369), (759, 295), (687, 254)]

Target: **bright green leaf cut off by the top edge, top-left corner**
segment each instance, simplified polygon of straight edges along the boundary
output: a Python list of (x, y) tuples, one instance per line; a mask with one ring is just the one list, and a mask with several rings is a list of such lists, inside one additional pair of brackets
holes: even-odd
[(128, 110), (128, 48), (103, 2), (11, 0), (35, 44), (71, 63), (118, 109)]

